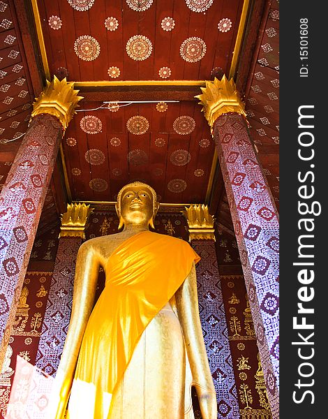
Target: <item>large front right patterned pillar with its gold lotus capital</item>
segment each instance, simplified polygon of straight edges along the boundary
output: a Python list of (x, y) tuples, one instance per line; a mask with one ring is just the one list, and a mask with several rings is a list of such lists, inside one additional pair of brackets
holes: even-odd
[(197, 96), (223, 172), (273, 418), (278, 418), (279, 227), (276, 206), (233, 80), (206, 82)]

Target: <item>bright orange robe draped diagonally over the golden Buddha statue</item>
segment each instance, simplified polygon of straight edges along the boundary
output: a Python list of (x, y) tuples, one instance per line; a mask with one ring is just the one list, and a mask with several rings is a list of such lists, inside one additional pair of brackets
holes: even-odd
[(105, 288), (87, 323), (73, 382), (73, 388), (77, 382), (80, 388), (91, 384), (96, 403), (101, 394), (101, 412), (91, 407), (94, 413), (85, 418), (107, 418), (103, 409), (110, 411), (112, 395), (142, 333), (198, 260), (187, 242), (150, 231), (128, 238), (108, 258)]

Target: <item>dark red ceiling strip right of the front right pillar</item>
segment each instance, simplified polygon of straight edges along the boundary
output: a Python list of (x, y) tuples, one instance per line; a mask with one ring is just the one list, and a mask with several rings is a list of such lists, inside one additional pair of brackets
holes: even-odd
[(271, 193), (279, 200), (279, 10), (274, 0), (264, 21), (246, 110)]

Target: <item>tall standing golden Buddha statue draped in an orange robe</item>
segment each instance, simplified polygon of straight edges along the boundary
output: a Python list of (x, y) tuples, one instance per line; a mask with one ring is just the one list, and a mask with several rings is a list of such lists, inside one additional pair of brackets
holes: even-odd
[[(121, 233), (84, 242), (73, 310), (54, 380), (49, 419), (216, 419), (198, 312), (195, 262), (183, 240), (152, 233), (156, 192), (134, 182), (119, 191)], [(99, 268), (105, 288), (94, 306)], [(69, 399), (69, 402), (68, 402)]]

